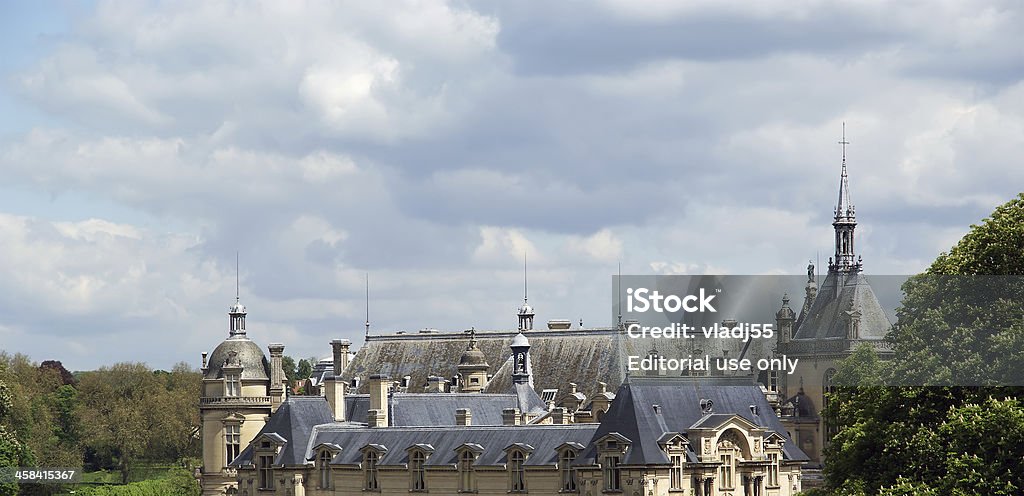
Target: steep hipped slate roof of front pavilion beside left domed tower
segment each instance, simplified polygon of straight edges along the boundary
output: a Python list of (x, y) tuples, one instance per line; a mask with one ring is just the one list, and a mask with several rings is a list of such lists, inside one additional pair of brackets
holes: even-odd
[[(263, 435), (276, 435), (285, 440), (285, 447), (278, 454), (275, 464), (298, 465), (305, 463), (305, 450), (313, 426), (334, 421), (334, 414), (324, 397), (289, 397), (278, 407), (270, 420), (255, 439)], [(252, 462), (252, 447), (246, 447), (231, 466)]]

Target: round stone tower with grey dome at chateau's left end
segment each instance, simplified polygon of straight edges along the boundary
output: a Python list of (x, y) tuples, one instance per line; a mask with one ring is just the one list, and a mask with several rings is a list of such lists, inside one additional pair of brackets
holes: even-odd
[[(281, 359), (285, 346), (270, 344), (271, 362), (246, 335), (246, 307), (236, 296), (227, 311), (227, 339), (203, 354), (199, 401), (203, 428), (204, 495), (222, 495), (237, 484), (227, 467), (256, 437), (284, 397)], [(274, 384), (271, 378), (276, 378)]]

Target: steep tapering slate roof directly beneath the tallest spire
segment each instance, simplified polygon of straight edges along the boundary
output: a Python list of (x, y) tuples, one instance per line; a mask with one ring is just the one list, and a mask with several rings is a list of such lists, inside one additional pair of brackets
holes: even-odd
[(883, 339), (892, 327), (863, 274), (829, 272), (814, 303), (800, 321), (794, 339), (846, 338), (849, 312), (860, 313), (861, 339)]

